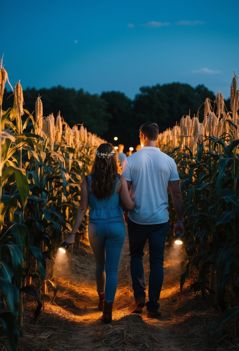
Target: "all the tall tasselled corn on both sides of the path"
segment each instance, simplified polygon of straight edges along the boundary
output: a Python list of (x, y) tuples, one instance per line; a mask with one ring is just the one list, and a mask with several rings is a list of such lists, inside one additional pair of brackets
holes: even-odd
[[(36, 299), (35, 318), (44, 300), (54, 301), (55, 248), (62, 232), (71, 231), (79, 184), (89, 173), (96, 146), (104, 141), (83, 125), (70, 128), (60, 112), (56, 119), (53, 114), (43, 117), (40, 96), (30, 114), (23, 108), (20, 83), (13, 107), (2, 111), (6, 80), (1, 68), (0, 320), (12, 351), (24, 325), (27, 297)], [(192, 289), (209, 296), (214, 309), (219, 307), (219, 327), (238, 313), (238, 100), (234, 77), (231, 112), (225, 111), (219, 93), (213, 107), (206, 99), (202, 123), (199, 116), (183, 117), (158, 138), (161, 150), (177, 162), (184, 197), (187, 257), (181, 289), (190, 277)], [(79, 232), (86, 224), (87, 218)], [(51, 269), (46, 277), (47, 260)]]

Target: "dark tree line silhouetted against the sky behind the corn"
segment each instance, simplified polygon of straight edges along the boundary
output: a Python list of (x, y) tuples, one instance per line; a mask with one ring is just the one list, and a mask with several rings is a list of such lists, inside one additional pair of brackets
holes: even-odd
[[(64, 120), (73, 126), (82, 124), (87, 130), (116, 144), (125, 145), (125, 151), (139, 143), (138, 129), (145, 121), (155, 121), (162, 132), (173, 127), (183, 115), (197, 115), (198, 108), (206, 98), (212, 101), (215, 95), (204, 85), (195, 88), (188, 84), (171, 83), (144, 86), (133, 100), (118, 91), (90, 94), (83, 89), (62, 86), (50, 89), (27, 88), (23, 91), (25, 108), (33, 113), (38, 94), (43, 103), (43, 115), (57, 115), (61, 111)], [(11, 92), (4, 94), (3, 109), (13, 106)], [(226, 101), (229, 109), (229, 99)], [(23, 116), (24, 117), (24, 116)], [(203, 108), (199, 109), (199, 120), (203, 119)], [(117, 142), (114, 137), (118, 137)]]

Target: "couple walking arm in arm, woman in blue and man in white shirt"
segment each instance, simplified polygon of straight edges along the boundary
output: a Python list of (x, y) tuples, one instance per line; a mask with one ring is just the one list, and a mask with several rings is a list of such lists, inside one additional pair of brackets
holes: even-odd
[[(135, 302), (131, 312), (141, 313), (146, 305), (147, 317), (161, 316), (159, 296), (164, 278), (164, 246), (168, 234), (169, 186), (177, 214), (174, 231), (184, 233), (182, 195), (175, 161), (155, 146), (158, 126), (146, 122), (139, 129), (141, 150), (123, 163), (122, 175), (117, 173), (115, 151), (110, 144), (96, 150), (91, 173), (82, 181), (81, 202), (67, 241), (73, 243), (90, 204), (89, 242), (96, 260), (98, 308), (102, 321), (112, 321), (112, 305), (117, 288), (117, 270), (128, 217), (130, 271)], [(127, 216), (127, 213), (129, 214)], [(145, 304), (143, 269), (144, 246), (149, 241), (149, 301)]]

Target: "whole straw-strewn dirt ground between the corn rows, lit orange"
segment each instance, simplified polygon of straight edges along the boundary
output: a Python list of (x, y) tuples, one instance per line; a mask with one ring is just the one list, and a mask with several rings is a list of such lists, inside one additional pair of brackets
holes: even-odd
[[(166, 252), (169, 250), (167, 246)], [(84, 241), (79, 249), (68, 255), (69, 274), (60, 272), (55, 279), (58, 285), (55, 303), (49, 305), (45, 302), (45, 311), (37, 320), (33, 318), (35, 303), (29, 299), (18, 350), (237, 350), (236, 340), (232, 337), (233, 323), (225, 324), (219, 337), (215, 326), (210, 339), (207, 339), (207, 327), (213, 320), (218, 320), (219, 315), (210, 309), (208, 299), (203, 300), (200, 294), (194, 295), (189, 280), (180, 292), (178, 265), (169, 253), (166, 254), (168, 259), (160, 307), (162, 318), (148, 320), (145, 311), (143, 315), (130, 314), (134, 298), (127, 256), (128, 252), (122, 258), (118, 271), (112, 324), (99, 320), (101, 313), (96, 308), (94, 257), (87, 241)], [(147, 256), (146, 247), (146, 280), (149, 274)], [(7, 351), (3, 331), (0, 332), (0, 350)]]

